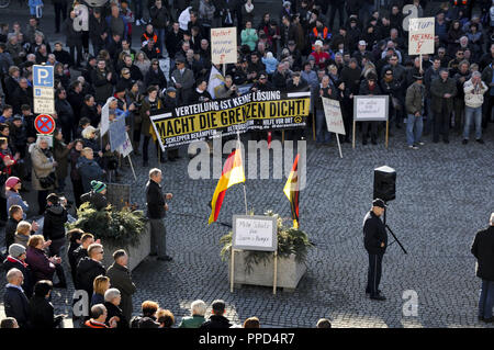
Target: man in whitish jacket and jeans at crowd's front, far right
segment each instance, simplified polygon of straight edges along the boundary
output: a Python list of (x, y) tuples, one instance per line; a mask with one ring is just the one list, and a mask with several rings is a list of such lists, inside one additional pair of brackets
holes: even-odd
[(464, 91), (464, 128), (463, 145), (469, 142), (470, 126), (475, 124), (475, 139), (479, 144), (483, 144), (482, 139), (482, 104), (484, 103), (484, 93), (487, 86), (482, 81), (480, 71), (474, 71), (472, 78), (463, 84)]

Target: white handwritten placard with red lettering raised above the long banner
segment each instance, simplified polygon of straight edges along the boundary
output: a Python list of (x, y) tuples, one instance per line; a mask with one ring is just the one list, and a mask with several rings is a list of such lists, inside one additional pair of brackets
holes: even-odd
[(211, 60), (215, 65), (237, 63), (237, 29), (211, 29)]

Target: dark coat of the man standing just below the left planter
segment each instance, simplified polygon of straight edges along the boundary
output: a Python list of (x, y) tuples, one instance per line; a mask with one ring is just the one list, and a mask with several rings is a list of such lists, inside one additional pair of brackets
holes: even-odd
[(128, 321), (132, 317), (132, 295), (136, 292), (135, 284), (132, 282), (131, 271), (114, 262), (108, 268), (106, 275), (110, 278), (110, 284), (120, 291), (122, 301), (120, 308)]

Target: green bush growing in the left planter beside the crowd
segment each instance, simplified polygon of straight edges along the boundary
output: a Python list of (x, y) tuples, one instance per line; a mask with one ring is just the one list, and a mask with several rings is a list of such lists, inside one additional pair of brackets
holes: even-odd
[(69, 224), (69, 229), (80, 228), (91, 233), (102, 241), (123, 246), (135, 246), (146, 226), (143, 211), (131, 211), (123, 207), (120, 211), (109, 205), (103, 211), (97, 211), (89, 202), (77, 211), (77, 221)]

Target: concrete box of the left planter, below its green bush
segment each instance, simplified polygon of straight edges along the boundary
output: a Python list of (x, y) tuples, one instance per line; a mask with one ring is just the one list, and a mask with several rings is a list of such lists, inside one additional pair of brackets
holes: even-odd
[(145, 230), (139, 234), (141, 240), (136, 246), (120, 246), (113, 242), (101, 241), (104, 249), (103, 264), (109, 268), (113, 263), (113, 252), (119, 249), (125, 249), (128, 255), (128, 269), (132, 271), (149, 256), (150, 252), (150, 226), (146, 224)]

